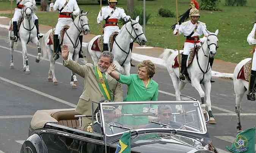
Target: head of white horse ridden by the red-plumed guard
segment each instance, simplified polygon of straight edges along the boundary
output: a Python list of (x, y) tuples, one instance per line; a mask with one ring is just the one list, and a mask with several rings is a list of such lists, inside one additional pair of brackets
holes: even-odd
[(207, 36), (207, 48), (208, 48), (208, 51), (209, 51), (209, 56), (212, 57), (212, 58), (217, 53), (218, 32), (219, 32), (219, 30), (217, 29), (215, 31), (215, 33), (209, 32), (209, 35)]

